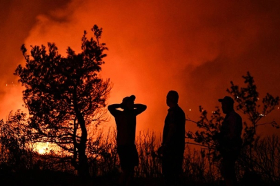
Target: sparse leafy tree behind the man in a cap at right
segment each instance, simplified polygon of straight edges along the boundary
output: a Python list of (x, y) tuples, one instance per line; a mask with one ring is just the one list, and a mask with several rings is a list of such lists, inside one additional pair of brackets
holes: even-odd
[[(267, 93), (262, 100), (262, 105), (258, 103), (259, 101), (259, 92), (257, 92), (257, 86), (254, 84), (254, 79), (250, 75), (250, 72), (247, 72), (246, 76), (242, 76), (245, 79), (245, 87), (239, 87), (234, 85), (231, 81), (231, 87), (227, 89), (227, 92), (231, 94), (234, 99), (236, 110), (243, 112), (248, 117), (247, 123), (246, 118), (243, 118), (243, 145), (242, 145), (242, 164), (243, 168), (246, 171), (254, 172), (254, 166), (252, 163), (252, 147), (259, 140), (257, 138), (257, 127), (260, 125), (271, 125), (272, 127), (279, 128), (278, 123), (272, 121), (270, 123), (259, 123), (263, 116), (267, 116), (279, 105), (279, 96), (272, 96)], [(210, 162), (217, 163), (216, 166), (219, 166), (219, 160), (221, 159), (219, 153), (219, 143), (215, 138), (215, 135), (220, 132), (221, 121), (223, 117), (221, 116), (219, 107), (216, 107), (216, 110), (212, 112), (210, 118), (208, 118), (208, 112), (203, 110), (199, 106), (199, 111), (201, 112), (199, 121), (192, 121), (197, 124), (199, 130), (197, 132), (188, 132), (186, 138), (190, 138), (203, 147), (208, 148), (208, 158)], [(188, 119), (188, 121), (191, 121)], [(211, 165), (210, 165), (211, 169)]]

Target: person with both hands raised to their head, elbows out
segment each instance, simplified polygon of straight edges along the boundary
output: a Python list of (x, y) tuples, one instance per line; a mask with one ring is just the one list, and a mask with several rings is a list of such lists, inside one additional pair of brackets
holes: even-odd
[[(135, 146), (136, 116), (146, 110), (143, 104), (134, 104), (135, 96), (125, 97), (121, 104), (108, 106), (117, 124), (117, 153), (121, 163), (122, 174), (120, 185), (130, 185), (134, 175), (134, 167), (139, 158)], [(118, 110), (119, 108), (123, 111)]]

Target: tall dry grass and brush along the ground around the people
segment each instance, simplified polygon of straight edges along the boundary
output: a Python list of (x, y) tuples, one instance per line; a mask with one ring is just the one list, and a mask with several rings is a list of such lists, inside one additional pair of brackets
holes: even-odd
[[(23, 116), (20, 115), (17, 116)], [(7, 122), (1, 121), (0, 179), (9, 185), (113, 185), (121, 171), (116, 150), (116, 130), (97, 130), (88, 140), (87, 156), (90, 165), (88, 181), (81, 183), (70, 158), (61, 149), (39, 154), (28, 140), (24, 122), (10, 115)], [(260, 185), (280, 183), (280, 138), (265, 136), (257, 138), (252, 151), (243, 149), (237, 162), (238, 178), (241, 183)], [(139, 166), (135, 169), (138, 185), (161, 185), (161, 159), (157, 156), (160, 142), (152, 131), (140, 132), (136, 139)], [(248, 159), (248, 153), (252, 158)], [(62, 154), (62, 155), (61, 155)], [(246, 166), (254, 166), (247, 172)], [(208, 149), (192, 149), (186, 145), (181, 174), (183, 185), (220, 185), (219, 160), (214, 160)]]

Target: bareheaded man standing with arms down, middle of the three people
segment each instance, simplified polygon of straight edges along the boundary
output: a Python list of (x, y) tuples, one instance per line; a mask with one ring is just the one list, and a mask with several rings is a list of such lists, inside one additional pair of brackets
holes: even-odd
[(185, 150), (185, 112), (178, 105), (179, 94), (171, 90), (166, 96), (168, 114), (164, 121), (163, 143), (158, 149), (162, 156), (162, 172), (167, 185), (177, 185), (182, 172)]

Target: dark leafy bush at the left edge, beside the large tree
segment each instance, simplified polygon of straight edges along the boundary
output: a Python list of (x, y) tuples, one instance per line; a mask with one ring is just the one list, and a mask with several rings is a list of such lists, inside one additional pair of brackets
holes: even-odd
[(32, 166), (29, 162), (32, 141), (28, 134), (30, 129), (26, 123), (26, 114), (20, 110), (10, 112), (7, 121), (0, 121), (1, 165), (5, 163), (6, 167), (10, 167), (10, 171), (28, 169)]

